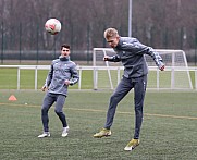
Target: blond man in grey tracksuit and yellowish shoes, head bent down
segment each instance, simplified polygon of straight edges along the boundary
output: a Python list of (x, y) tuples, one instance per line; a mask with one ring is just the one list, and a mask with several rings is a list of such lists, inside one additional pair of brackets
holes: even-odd
[(106, 29), (104, 38), (109, 46), (114, 49), (116, 54), (113, 57), (106, 56), (103, 57), (103, 60), (110, 62), (121, 61), (124, 66), (124, 74), (110, 98), (104, 127), (96, 133), (94, 137), (101, 138), (111, 135), (110, 128), (113, 123), (116, 106), (127, 93), (134, 88), (135, 131), (133, 139), (124, 148), (124, 150), (130, 151), (139, 145), (139, 133), (143, 123), (143, 108), (148, 74), (145, 54), (150, 56), (161, 71), (164, 70), (164, 64), (162, 58), (151, 47), (140, 44), (133, 37), (121, 37), (115, 28)]

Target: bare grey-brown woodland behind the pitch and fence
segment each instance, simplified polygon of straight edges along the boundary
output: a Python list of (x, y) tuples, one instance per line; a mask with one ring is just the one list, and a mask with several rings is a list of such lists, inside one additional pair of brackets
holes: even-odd
[[(156, 48), (178, 48), (180, 41), (194, 47), (196, 8), (197, 0), (133, 1), (133, 36)], [(128, 29), (128, 0), (0, 0), (0, 9), (4, 49), (53, 49), (62, 42), (75, 50), (86, 49), (87, 44), (103, 47), (107, 27), (123, 36)], [(61, 34), (45, 32), (50, 17), (61, 21)]]

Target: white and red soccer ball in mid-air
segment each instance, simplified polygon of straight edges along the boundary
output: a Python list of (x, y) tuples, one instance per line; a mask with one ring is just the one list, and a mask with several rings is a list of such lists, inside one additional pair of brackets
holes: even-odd
[(49, 19), (45, 23), (46, 30), (51, 35), (57, 35), (61, 30), (61, 23), (57, 19)]

